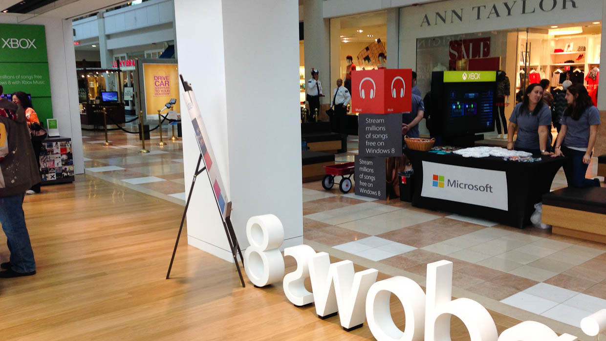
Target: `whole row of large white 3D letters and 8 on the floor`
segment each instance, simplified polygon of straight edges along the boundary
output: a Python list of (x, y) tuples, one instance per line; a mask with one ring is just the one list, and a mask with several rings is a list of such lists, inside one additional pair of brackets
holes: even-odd
[[(444, 178), (445, 179), (445, 178)], [(284, 239), (284, 227), (273, 214), (248, 219), (246, 234), (250, 247), (244, 253), (248, 279), (262, 287), (282, 281), (284, 294), (296, 306), (314, 303), (321, 319), (339, 314), (346, 330), (367, 322), (379, 341), (450, 341), (450, 317), (456, 316), (467, 328), (471, 341), (574, 341), (570, 334), (558, 337), (548, 326), (525, 321), (498, 335), (494, 320), (480, 303), (467, 299), (452, 299), (453, 263), (448, 260), (427, 265), (425, 292), (415, 281), (396, 276), (376, 281), (379, 271), (367, 269), (355, 272), (351, 260), (330, 263), (325, 252), (316, 253), (308, 245), (285, 248), (284, 256), (296, 260), (296, 270), (284, 275), (284, 258), (279, 250)], [(310, 293), (305, 279), (311, 282)], [(402, 331), (393, 322), (390, 296), (402, 303), (405, 326)], [(591, 314), (581, 321), (585, 334), (595, 336), (606, 316), (606, 310)]]

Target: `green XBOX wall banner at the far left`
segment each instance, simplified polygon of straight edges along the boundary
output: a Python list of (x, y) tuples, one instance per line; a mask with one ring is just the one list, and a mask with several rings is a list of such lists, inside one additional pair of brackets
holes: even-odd
[(0, 85), (31, 94), (42, 125), (53, 118), (44, 25), (0, 24)]

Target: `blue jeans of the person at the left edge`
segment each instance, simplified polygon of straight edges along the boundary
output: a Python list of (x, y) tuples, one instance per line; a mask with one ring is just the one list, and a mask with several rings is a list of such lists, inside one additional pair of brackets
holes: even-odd
[(0, 224), (6, 234), (11, 268), (17, 273), (29, 273), (36, 270), (30, 235), (25, 227), (24, 195), (25, 193), (21, 193), (15, 196), (0, 197)]

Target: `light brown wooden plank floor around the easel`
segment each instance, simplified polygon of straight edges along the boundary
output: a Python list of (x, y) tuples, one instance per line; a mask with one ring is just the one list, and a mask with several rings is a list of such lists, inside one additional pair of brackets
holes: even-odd
[[(259, 289), (247, 280), (241, 288), (233, 265), (186, 239), (164, 279), (180, 205), (90, 176), (42, 191), (24, 203), (38, 274), (0, 280), (1, 340), (373, 339), (366, 325), (346, 333), (338, 316), (320, 320), (313, 305), (296, 308), (281, 284)], [(491, 314), (499, 333), (518, 323)], [(452, 336), (469, 339), (456, 318)]]

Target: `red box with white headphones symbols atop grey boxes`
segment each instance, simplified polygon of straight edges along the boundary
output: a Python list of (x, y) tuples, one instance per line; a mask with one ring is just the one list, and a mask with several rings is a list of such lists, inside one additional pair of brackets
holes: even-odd
[(412, 70), (387, 68), (351, 72), (351, 105), (355, 113), (391, 114), (410, 111)]

